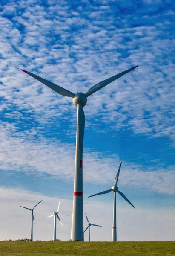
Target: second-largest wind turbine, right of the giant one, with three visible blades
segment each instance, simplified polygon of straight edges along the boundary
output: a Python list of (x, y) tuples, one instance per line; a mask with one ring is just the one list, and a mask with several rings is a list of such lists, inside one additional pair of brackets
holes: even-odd
[[(114, 181), (114, 186), (112, 187), (112, 189), (108, 189), (108, 190), (105, 190), (103, 192), (100, 192), (100, 193), (97, 193), (95, 195), (102, 195), (102, 194), (107, 194), (111, 191), (114, 192), (114, 206), (113, 206), (113, 225), (112, 225), (112, 242), (115, 242), (117, 241), (117, 225), (116, 225), (116, 192), (121, 195), (129, 204), (131, 204), (131, 202), (128, 200), (128, 198), (126, 198), (125, 195), (123, 195), (123, 193), (121, 191), (118, 190), (118, 187), (117, 187), (117, 182), (118, 182), (118, 177), (119, 177), (119, 174), (120, 174), (120, 168), (121, 168), (121, 163), (120, 163), (120, 166), (119, 166), (119, 169), (118, 169), (118, 172), (117, 172), (117, 175), (115, 177), (115, 181)], [(92, 196), (95, 196), (95, 195), (90, 195), (89, 197), (92, 197)], [(133, 207), (134, 205), (131, 204)], [(135, 207), (134, 207), (135, 208)]]

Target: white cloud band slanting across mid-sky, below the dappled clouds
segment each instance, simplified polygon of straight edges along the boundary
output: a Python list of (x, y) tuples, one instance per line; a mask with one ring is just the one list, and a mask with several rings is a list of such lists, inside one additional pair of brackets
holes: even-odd
[[(42, 130), (42, 129), (41, 129)], [(74, 178), (75, 145), (49, 140), (35, 134), (39, 129), (17, 132), (14, 125), (4, 124), (0, 133), (0, 169), (7, 172), (49, 174), (62, 180)], [(103, 183), (113, 186), (121, 159), (116, 154), (104, 154), (84, 149), (83, 180), (85, 183)], [(61, 163), (61, 164), (60, 164)], [(129, 186), (147, 192), (175, 193), (174, 166), (145, 168), (123, 161), (120, 186)]]

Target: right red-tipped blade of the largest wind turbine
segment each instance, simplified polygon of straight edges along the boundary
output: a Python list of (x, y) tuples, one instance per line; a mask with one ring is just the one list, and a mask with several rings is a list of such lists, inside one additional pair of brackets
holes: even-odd
[(119, 73), (118, 75), (112, 76), (104, 81), (101, 81), (98, 84), (95, 84), (94, 86), (92, 86), (86, 93), (86, 97), (89, 97), (92, 93), (95, 93), (96, 91), (100, 90), (101, 88), (105, 87), (107, 84), (112, 83), (113, 81), (115, 81), (116, 79), (118, 79), (121, 76), (124, 76), (125, 74), (129, 73), (130, 71), (132, 71), (133, 69), (135, 69), (138, 66), (129, 68), (128, 70), (125, 70), (121, 73)]

